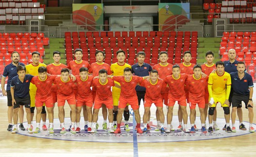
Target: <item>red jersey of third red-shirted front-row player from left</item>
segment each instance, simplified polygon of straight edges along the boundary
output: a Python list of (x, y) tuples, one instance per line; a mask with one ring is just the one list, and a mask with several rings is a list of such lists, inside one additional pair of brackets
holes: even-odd
[(91, 86), (93, 83), (93, 76), (87, 76), (87, 79), (85, 81), (81, 80), (80, 76), (76, 76), (76, 83), (79, 88), (77, 96), (81, 99), (88, 98), (89, 96), (93, 96)]

